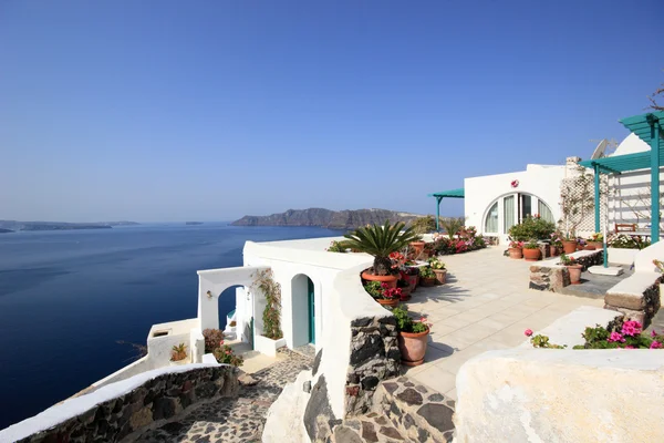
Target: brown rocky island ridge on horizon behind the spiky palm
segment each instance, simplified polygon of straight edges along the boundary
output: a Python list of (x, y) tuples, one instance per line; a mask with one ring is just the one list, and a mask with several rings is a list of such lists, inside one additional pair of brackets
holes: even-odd
[(328, 229), (355, 229), (367, 224), (409, 223), (417, 214), (387, 209), (330, 210), (323, 208), (289, 209), (267, 216), (246, 215), (231, 223), (232, 226), (317, 226)]

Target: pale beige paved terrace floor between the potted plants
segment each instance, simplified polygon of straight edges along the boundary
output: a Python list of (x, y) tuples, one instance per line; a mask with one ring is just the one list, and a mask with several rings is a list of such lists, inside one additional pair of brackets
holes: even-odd
[(444, 256), (447, 284), (419, 287), (408, 308), (433, 323), (425, 363), (403, 372), (456, 400), (456, 373), (481, 352), (512, 348), (580, 306), (603, 307), (603, 299), (528, 289), (530, 261), (502, 256), (504, 247)]

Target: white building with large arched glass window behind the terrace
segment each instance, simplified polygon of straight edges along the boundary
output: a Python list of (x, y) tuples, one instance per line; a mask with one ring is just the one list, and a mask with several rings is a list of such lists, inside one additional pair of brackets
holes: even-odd
[[(630, 134), (610, 156), (650, 151), (650, 146), (635, 134)], [(595, 152), (593, 157), (603, 156)], [(475, 226), (479, 233), (497, 237), (500, 244), (508, 240), (509, 228), (527, 216), (560, 223), (566, 230), (561, 208), (563, 186), (584, 173), (579, 157), (570, 157), (564, 165), (529, 164), (526, 171), (507, 174), (485, 175), (464, 179), (463, 189), (432, 194), (438, 198), (463, 196), (467, 226)], [(640, 169), (610, 176), (601, 176), (601, 227), (606, 223), (608, 231), (615, 224), (634, 224), (636, 231), (647, 234), (650, 227), (650, 169)], [(662, 189), (662, 182), (661, 182)], [(456, 195), (455, 195), (456, 194)], [(588, 236), (595, 231), (594, 212), (590, 210), (579, 222), (577, 234)]]

